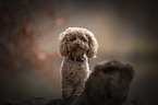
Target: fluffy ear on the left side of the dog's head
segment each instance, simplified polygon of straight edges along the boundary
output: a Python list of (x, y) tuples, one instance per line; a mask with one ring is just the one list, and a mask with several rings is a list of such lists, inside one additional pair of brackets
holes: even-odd
[(66, 47), (66, 36), (65, 33), (61, 33), (59, 37), (59, 52), (61, 56), (68, 56), (68, 47)]

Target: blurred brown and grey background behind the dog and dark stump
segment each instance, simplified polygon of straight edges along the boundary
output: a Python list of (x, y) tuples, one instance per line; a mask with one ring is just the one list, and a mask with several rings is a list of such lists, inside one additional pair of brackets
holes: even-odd
[(92, 31), (104, 60), (135, 69), (130, 96), (158, 97), (158, 3), (155, 0), (1, 0), (0, 97), (60, 97), (58, 37), (68, 27)]

